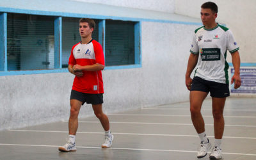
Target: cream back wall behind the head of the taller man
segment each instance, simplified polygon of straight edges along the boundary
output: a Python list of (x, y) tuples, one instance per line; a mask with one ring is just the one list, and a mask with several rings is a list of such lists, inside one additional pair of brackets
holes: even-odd
[[(175, 13), (200, 18), (200, 6), (208, 0), (176, 0)], [(256, 1), (255, 0), (212, 0), (218, 5), (217, 22), (227, 25), (231, 29), (240, 47), (242, 63), (255, 63), (256, 44)], [(231, 56), (228, 54), (228, 62)]]

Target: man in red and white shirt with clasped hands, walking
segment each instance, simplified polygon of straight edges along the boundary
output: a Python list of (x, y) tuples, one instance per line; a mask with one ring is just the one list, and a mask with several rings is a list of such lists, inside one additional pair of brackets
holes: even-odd
[(59, 150), (62, 152), (76, 151), (76, 132), (78, 127), (78, 114), (81, 106), (92, 104), (95, 116), (99, 118), (105, 131), (105, 142), (102, 148), (111, 147), (113, 135), (109, 129), (108, 116), (102, 111), (103, 81), (101, 70), (105, 61), (101, 45), (92, 39), (95, 22), (92, 19), (79, 21), (81, 42), (72, 47), (68, 61), (68, 71), (75, 75), (70, 95), (70, 117), (68, 121), (68, 142)]

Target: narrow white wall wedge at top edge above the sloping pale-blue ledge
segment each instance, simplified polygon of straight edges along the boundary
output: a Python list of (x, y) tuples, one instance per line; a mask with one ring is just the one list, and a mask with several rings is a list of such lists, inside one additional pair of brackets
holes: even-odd
[(175, 0), (73, 0), (86, 3), (100, 3), (111, 6), (125, 6), (130, 8), (139, 8), (143, 10), (154, 10), (159, 12), (173, 13), (175, 11)]

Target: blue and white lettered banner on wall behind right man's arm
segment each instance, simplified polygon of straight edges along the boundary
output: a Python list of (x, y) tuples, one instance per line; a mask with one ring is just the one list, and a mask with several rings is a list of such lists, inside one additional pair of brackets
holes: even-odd
[[(234, 75), (234, 68), (231, 68), (231, 77)], [(234, 83), (231, 84), (231, 93), (256, 93), (256, 68), (241, 67), (240, 68), (241, 86), (235, 90)]]

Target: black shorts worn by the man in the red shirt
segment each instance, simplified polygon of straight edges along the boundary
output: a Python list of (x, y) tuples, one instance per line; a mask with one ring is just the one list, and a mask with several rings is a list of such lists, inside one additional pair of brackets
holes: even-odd
[[(82, 93), (76, 90), (71, 90), (70, 99), (76, 99), (81, 102), (86, 102), (86, 104), (102, 104), (103, 103), (103, 93), (91, 94), (91, 93)], [(82, 104), (82, 105), (83, 105)]]

